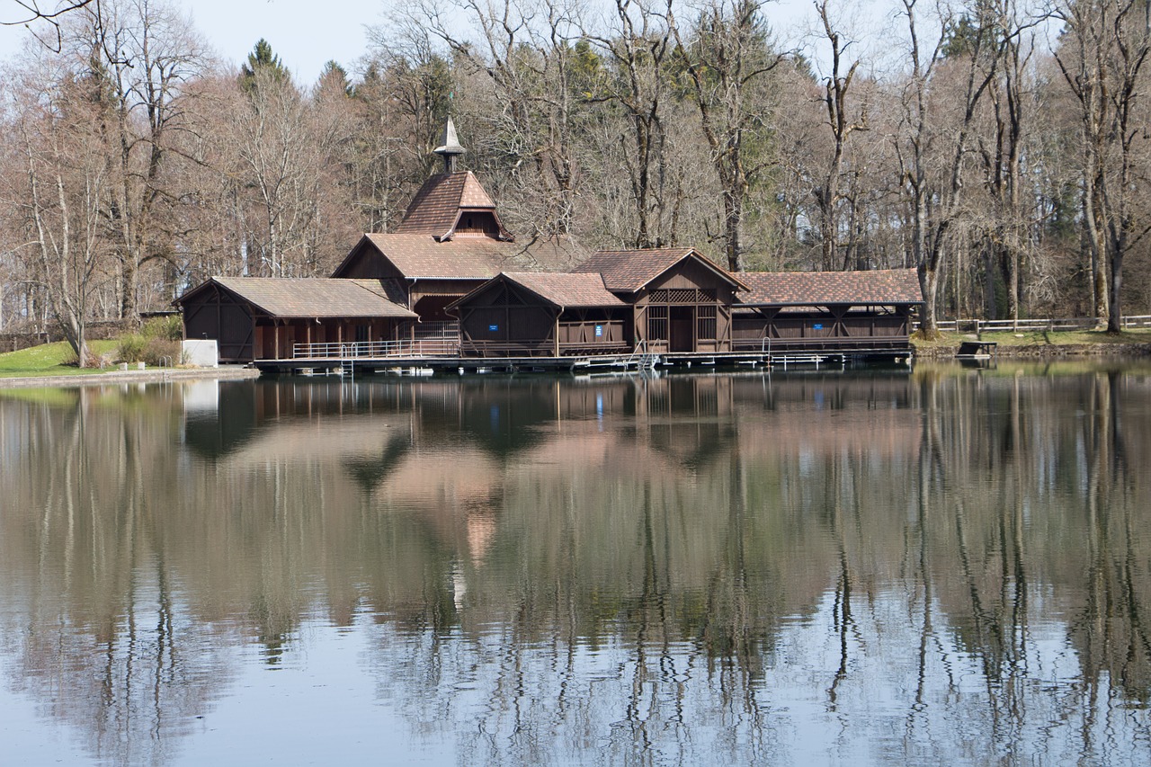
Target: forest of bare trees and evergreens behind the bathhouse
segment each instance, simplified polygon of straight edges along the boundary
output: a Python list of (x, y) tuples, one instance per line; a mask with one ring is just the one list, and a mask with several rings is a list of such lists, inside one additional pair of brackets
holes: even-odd
[(1143, 1), (814, 0), (793, 41), (763, 0), (403, 0), (314, 83), (163, 0), (73, 5), (0, 70), (0, 333), (326, 276), (449, 115), (519, 241), (915, 267), (929, 334), (1151, 311)]

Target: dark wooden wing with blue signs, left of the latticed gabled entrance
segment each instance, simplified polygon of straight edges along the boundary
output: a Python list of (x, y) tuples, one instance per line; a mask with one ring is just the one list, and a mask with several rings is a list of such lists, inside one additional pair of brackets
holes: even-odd
[(502, 272), (448, 306), (460, 354), (563, 357), (630, 350), (631, 307), (597, 273)]

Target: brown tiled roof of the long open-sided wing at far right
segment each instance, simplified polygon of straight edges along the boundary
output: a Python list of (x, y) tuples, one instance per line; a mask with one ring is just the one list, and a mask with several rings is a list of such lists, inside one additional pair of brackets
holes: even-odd
[(828, 304), (921, 304), (915, 269), (871, 272), (744, 272), (745, 306), (824, 306)]

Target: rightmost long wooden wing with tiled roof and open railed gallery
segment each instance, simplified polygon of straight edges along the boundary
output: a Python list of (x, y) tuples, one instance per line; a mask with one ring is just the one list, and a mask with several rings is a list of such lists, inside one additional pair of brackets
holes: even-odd
[(915, 269), (745, 272), (734, 314), (738, 350), (907, 349), (923, 303)]

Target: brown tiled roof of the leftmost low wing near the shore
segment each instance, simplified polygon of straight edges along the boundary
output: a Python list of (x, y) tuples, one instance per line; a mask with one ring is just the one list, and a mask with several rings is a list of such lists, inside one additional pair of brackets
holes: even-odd
[(418, 317), (388, 301), (379, 280), (212, 278), (212, 281), (272, 317)]

